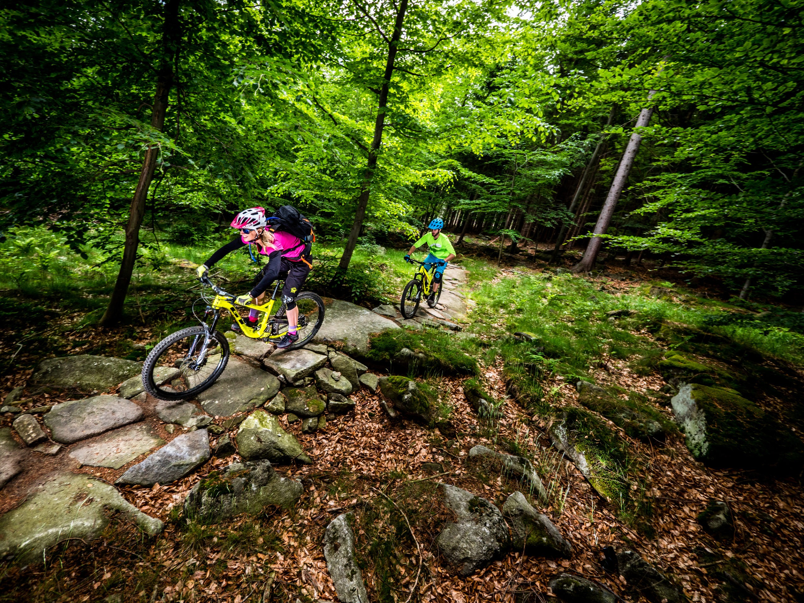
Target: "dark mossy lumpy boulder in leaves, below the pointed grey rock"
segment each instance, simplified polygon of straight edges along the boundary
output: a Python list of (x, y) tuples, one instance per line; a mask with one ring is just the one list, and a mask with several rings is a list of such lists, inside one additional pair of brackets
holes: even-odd
[(292, 507), (304, 489), (301, 482), (282, 478), (270, 461), (234, 463), (198, 482), (184, 500), (184, 513), (207, 523), (234, 515), (259, 515), (269, 505)]

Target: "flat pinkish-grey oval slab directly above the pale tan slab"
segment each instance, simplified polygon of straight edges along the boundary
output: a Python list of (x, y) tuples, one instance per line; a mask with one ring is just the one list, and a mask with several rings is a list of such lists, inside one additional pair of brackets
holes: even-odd
[(94, 396), (54, 406), (45, 415), (45, 425), (51, 429), (55, 441), (72, 444), (109, 429), (136, 423), (142, 417), (142, 408), (131, 400)]

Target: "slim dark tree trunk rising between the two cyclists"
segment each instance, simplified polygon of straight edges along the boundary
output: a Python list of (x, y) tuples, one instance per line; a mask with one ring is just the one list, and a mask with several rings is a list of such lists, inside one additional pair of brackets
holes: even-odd
[(383, 76), (383, 87), (379, 90), (379, 103), (377, 108), (377, 119), (374, 123), (374, 139), (371, 141), (371, 148), (368, 151), (368, 161), (366, 165), (366, 177), (363, 179), (363, 187), (357, 200), (357, 211), (355, 211), (355, 222), (349, 232), (349, 240), (343, 249), (343, 256), (338, 264), (338, 268), (346, 270), (349, 268), (352, 253), (357, 246), (357, 238), (360, 228), (363, 226), (363, 219), (366, 217), (366, 207), (368, 205), (368, 195), (371, 193), (371, 181), (374, 179), (374, 170), (377, 166), (377, 154), (379, 146), (383, 142), (383, 129), (385, 127), (385, 112), (388, 110), (388, 88), (391, 86), (391, 76), (394, 72), (394, 60), (396, 59), (396, 47), (402, 37), (402, 23), (404, 14), (408, 10), (408, 0), (401, 0), (399, 11), (396, 13), (396, 23), (394, 23), (394, 33), (388, 43), (388, 60), (385, 63), (385, 73)]

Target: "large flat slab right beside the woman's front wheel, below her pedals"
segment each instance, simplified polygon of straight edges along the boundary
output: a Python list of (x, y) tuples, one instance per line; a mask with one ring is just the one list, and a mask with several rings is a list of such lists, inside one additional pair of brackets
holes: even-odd
[(212, 416), (232, 416), (265, 404), (277, 395), (279, 385), (269, 372), (230, 358), (224, 374), (198, 400)]

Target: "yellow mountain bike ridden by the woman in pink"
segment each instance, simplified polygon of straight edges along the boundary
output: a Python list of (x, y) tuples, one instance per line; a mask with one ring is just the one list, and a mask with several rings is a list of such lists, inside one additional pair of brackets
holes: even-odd
[[(272, 342), (281, 338), (288, 330), (285, 304), (281, 304), (276, 314), (272, 314), (277, 303), (277, 291), (282, 281), (277, 281), (271, 298), (262, 306), (232, 302), (235, 296), (214, 285), (209, 277), (199, 279), (201, 283), (215, 292), (210, 298), (202, 294), (207, 302), (207, 310), (200, 326), (176, 331), (162, 339), (146, 358), (142, 366), (142, 385), (146, 392), (160, 400), (187, 400), (197, 396), (215, 383), (229, 362), (229, 342), (224, 334), (216, 330), (221, 314), (228, 312), (240, 326), (246, 337)], [(314, 338), (324, 322), (324, 302), (310, 291), (302, 291), (296, 297), (299, 309), (297, 325), (298, 341), (287, 347), (296, 349)], [(240, 316), (238, 308), (255, 308), (262, 313), (260, 321), (252, 328)], [(193, 312), (195, 314), (195, 310)]]

